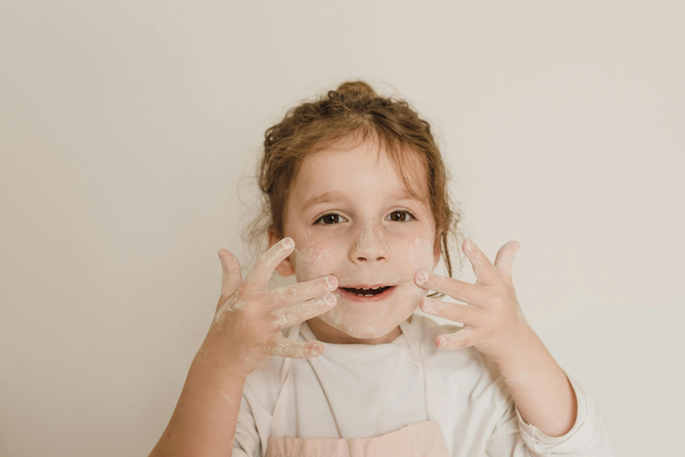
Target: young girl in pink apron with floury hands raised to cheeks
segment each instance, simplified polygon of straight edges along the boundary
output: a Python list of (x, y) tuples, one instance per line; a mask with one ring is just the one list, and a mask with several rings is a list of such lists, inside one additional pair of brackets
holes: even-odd
[[(519, 244), (490, 263), (466, 239), (475, 284), (432, 273), (451, 276), (458, 218), (406, 102), (358, 81), (290, 110), (259, 182), (271, 249), (244, 279), (219, 250), (216, 316), (152, 456), (613, 455), (523, 317)], [(269, 291), (273, 270), (297, 283)]]

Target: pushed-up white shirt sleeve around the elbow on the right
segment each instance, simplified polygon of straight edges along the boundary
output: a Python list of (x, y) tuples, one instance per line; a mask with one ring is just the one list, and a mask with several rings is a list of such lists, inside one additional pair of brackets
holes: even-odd
[(569, 376), (578, 412), (569, 432), (548, 436), (526, 423), (513, 404), (497, 424), (486, 446), (490, 457), (614, 457), (609, 434), (601, 416), (582, 385)]

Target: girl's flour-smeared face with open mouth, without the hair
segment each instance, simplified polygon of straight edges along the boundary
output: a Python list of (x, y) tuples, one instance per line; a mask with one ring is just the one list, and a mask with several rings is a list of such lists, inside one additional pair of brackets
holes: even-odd
[(418, 197), (386, 153), (364, 143), (307, 157), (288, 198), (283, 235), (295, 250), (277, 270), (298, 282), (336, 276), (338, 304), (319, 318), (355, 338), (386, 335), (409, 317), (426, 294), (414, 273), (440, 258), (425, 168), (409, 156)]

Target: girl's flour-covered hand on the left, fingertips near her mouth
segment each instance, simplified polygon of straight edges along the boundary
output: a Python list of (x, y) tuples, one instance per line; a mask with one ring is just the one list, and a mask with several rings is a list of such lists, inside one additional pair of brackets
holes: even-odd
[(335, 276), (267, 289), (273, 269), (295, 249), (284, 238), (266, 251), (242, 280), (240, 263), (231, 252), (219, 250), (223, 268), (221, 297), (201, 351), (225, 364), (227, 374), (245, 378), (271, 356), (310, 358), (323, 353), (319, 341), (299, 342), (280, 330), (325, 313), (336, 305)]

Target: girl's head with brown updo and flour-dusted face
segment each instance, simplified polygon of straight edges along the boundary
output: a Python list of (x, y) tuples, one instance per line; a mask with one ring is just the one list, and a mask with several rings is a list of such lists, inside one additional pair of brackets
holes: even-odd
[(266, 131), (258, 179), (251, 236), (295, 240), (284, 276), (336, 276), (338, 304), (319, 317), (353, 337), (386, 335), (414, 312), (416, 270), (442, 255), (451, 275), (458, 213), (430, 127), (405, 101), (357, 81), (291, 109)]

